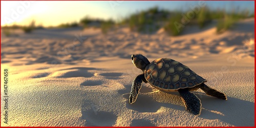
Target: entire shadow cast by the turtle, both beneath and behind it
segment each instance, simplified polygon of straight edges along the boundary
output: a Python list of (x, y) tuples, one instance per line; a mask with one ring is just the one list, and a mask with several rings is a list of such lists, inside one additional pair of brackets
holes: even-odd
[[(141, 89), (142, 90), (142, 89)], [(172, 100), (180, 100), (178, 92), (162, 92), (153, 94), (159, 95), (167, 93)], [(227, 97), (227, 100), (218, 99), (216, 97), (208, 96), (205, 93), (194, 92), (202, 103), (202, 111), (199, 118), (209, 120), (221, 120), (234, 126), (253, 126), (254, 125), (254, 103), (237, 98)], [(184, 105), (176, 105), (173, 103), (165, 103), (154, 101), (151, 96), (147, 94), (139, 94), (135, 103), (129, 103), (130, 92), (124, 94), (123, 97), (127, 99), (127, 109), (135, 110), (141, 113), (157, 112), (161, 106), (166, 108), (185, 111)], [(163, 99), (164, 100), (164, 99)], [(172, 112), (170, 112), (172, 114)], [(188, 113), (187, 114), (191, 114)]]

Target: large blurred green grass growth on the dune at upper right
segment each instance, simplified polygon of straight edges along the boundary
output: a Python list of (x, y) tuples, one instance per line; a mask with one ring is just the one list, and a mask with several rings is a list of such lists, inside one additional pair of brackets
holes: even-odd
[[(196, 9), (189, 11), (197, 12)], [(217, 33), (220, 33), (230, 29), (239, 19), (254, 17), (254, 13), (250, 14), (248, 10), (233, 9), (232, 12), (226, 12), (224, 9), (210, 10), (205, 6), (200, 8), (187, 24), (182, 24), (181, 20), (184, 18), (182, 14), (187, 14), (189, 11), (168, 11), (153, 7), (130, 15), (123, 20), (122, 24), (128, 24), (130, 30), (137, 32), (153, 30), (152, 26), (158, 26), (155, 27), (157, 29), (163, 27), (168, 34), (178, 36), (186, 25), (197, 25), (199, 28), (204, 28), (212, 20), (218, 20), (216, 28)]]

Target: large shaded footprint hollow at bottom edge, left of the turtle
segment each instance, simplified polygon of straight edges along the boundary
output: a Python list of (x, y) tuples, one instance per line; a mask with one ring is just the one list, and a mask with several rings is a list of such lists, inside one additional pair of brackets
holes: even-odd
[(86, 120), (86, 126), (113, 126), (117, 116), (111, 112), (90, 109), (82, 111), (81, 119)]

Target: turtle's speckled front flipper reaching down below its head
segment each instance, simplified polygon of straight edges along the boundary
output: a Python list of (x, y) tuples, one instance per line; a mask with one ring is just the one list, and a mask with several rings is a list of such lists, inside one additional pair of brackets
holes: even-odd
[(129, 102), (130, 104), (134, 103), (138, 97), (139, 91), (141, 89), (141, 84), (142, 80), (145, 79), (144, 73), (138, 75), (134, 80), (133, 80), (133, 85), (129, 97)]

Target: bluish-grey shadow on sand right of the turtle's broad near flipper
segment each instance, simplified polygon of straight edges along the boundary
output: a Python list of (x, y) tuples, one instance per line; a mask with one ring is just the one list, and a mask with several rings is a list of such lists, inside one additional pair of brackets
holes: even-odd
[(199, 92), (196, 92), (196, 95), (202, 103), (201, 118), (219, 119), (234, 126), (254, 125), (253, 102), (232, 97), (221, 100)]

